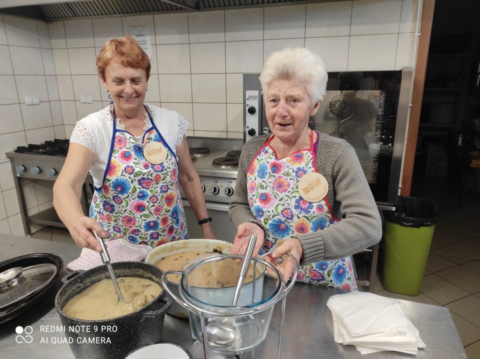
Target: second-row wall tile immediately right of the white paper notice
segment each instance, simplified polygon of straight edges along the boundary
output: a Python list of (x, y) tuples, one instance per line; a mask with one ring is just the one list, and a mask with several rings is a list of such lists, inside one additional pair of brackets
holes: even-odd
[(158, 73), (190, 73), (190, 46), (187, 43), (156, 45), (156, 58)]

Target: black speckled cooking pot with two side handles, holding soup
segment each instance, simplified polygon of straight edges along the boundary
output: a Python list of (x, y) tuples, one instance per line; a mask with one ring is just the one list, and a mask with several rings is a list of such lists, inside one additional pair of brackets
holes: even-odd
[[(140, 277), (161, 285), (163, 272), (154, 265), (140, 262), (116, 262), (111, 265), (117, 277)], [(161, 338), (165, 312), (171, 305), (171, 301), (164, 297), (164, 290), (145, 307), (116, 318), (84, 320), (63, 312), (68, 300), (105, 278), (110, 278), (105, 265), (77, 270), (62, 278), (65, 284), (55, 296), (55, 308), (64, 325), (65, 340), (77, 359), (120, 359), (132, 350)]]

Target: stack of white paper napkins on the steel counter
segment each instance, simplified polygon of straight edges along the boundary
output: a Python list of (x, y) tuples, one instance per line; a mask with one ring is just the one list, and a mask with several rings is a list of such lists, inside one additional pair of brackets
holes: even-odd
[(416, 354), (426, 345), (396, 299), (351, 291), (326, 302), (333, 316), (335, 341), (355, 345), (362, 354), (401, 351)]

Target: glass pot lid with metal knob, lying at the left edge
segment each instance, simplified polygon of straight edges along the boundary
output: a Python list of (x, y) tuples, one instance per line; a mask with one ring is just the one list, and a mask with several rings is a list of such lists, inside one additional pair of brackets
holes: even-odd
[(51, 263), (4, 270), (0, 273), (0, 309), (34, 295), (53, 280), (56, 272)]

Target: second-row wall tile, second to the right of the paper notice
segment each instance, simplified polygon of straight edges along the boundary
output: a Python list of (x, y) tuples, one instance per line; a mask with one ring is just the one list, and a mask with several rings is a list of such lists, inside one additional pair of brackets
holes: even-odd
[(225, 73), (225, 43), (190, 43), (191, 73)]

